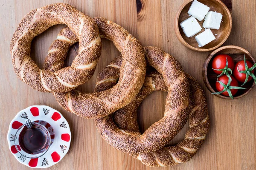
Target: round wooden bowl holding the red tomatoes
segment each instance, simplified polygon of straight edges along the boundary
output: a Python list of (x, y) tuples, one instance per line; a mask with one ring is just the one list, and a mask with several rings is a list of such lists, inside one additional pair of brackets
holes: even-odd
[[(207, 88), (209, 89), (209, 91), (211, 91), (212, 93), (218, 92), (215, 88), (215, 82), (217, 81), (217, 74), (214, 73), (214, 71), (212, 70), (212, 60), (214, 59), (214, 57), (218, 54), (228, 54), (230, 55), (234, 62), (239, 62), (241, 60), (244, 60), (244, 55), (246, 60), (255, 63), (255, 59), (253, 58), (253, 56), (246, 51), (244, 48), (238, 47), (238, 46), (234, 46), (234, 45), (228, 45), (228, 46), (224, 46), (221, 48), (218, 48), (217, 50), (213, 51), (211, 54), (209, 54), (208, 58), (205, 60), (204, 62), (204, 66), (203, 66), (203, 79), (204, 79), (204, 84), (207, 86)], [(236, 68), (234, 68), (236, 69)], [(243, 83), (239, 82), (239, 86), (241, 86)], [(243, 88), (246, 88), (244, 90), (239, 89), (237, 94), (235, 94), (233, 97), (234, 99), (239, 99), (240, 97), (245, 96), (246, 94), (248, 94), (254, 87), (255, 82), (253, 80), (251, 80), (250, 82), (247, 82), (245, 85), (243, 85)], [(214, 94), (215, 96), (218, 96), (222, 99), (231, 99), (230, 97), (227, 96), (222, 96), (221, 94)]]

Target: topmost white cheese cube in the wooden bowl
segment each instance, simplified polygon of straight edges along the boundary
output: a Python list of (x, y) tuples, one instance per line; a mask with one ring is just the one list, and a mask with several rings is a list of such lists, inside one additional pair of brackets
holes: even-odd
[(197, 0), (194, 0), (192, 5), (189, 8), (189, 15), (192, 15), (199, 21), (203, 20), (205, 15), (208, 13), (210, 8), (203, 3), (198, 2)]

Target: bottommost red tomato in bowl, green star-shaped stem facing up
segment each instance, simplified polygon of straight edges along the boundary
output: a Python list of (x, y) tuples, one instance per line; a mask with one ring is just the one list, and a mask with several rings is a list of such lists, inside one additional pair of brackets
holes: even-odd
[[(236, 86), (237, 87), (238, 86), (237, 80), (233, 76), (231, 76), (231, 78), (232, 78), (232, 81), (230, 83), (230, 86)], [(219, 77), (218, 80), (220, 82), (223, 82), (225, 85), (227, 85), (227, 83), (228, 83), (228, 77), (226, 75), (223, 75), (223, 76)], [(216, 85), (217, 91), (223, 91), (224, 87), (218, 81), (215, 83), (215, 85)], [(232, 96), (234, 96), (237, 93), (238, 89), (231, 89), (230, 91), (231, 91)], [(224, 96), (229, 96), (227, 91), (225, 91), (221, 94), (224, 95)]]

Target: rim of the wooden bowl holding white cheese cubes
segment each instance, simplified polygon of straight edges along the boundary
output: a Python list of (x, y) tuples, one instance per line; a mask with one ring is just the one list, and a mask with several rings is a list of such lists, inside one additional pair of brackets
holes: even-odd
[(181, 11), (183, 10), (183, 8), (184, 8), (188, 3), (192, 2), (192, 1), (194, 1), (194, 0), (188, 0), (188, 1), (186, 1), (186, 2), (183, 3), (183, 4), (180, 6), (180, 8), (178, 9), (178, 11), (177, 11), (177, 13), (176, 13), (176, 16), (175, 16), (175, 20), (174, 20), (174, 22), (175, 22), (175, 34), (176, 34), (178, 40), (179, 40), (185, 47), (187, 47), (187, 48), (189, 48), (189, 49), (191, 49), (191, 50), (193, 50), (193, 51), (199, 51), (199, 52), (213, 51), (213, 50), (215, 50), (216, 48), (220, 47), (220, 46), (227, 40), (227, 38), (230, 36), (230, 32), (231, 32), (231, 30), (232, 30), (232, 24), (233, 24), (233, 23), (232, 23), (232, 16), (231, 16), (231, 14), (230, 14), (230, 11), (229, 11), (229, 9), (227, 8), (227, 6), (226, 6), (223, 2), (221, 2), (220, 0), (213, 0), (213, 1), (217, 1), (218, 3), (220, 3), (221, 6), (227, 11), (227, 14), (228, 14), (228, 17), (229, 17), (229, 20), (230, 20), (230, 28), (229, 28), (229, 30), (228, 30), (228, 33), (227, 33), (226, 36), (224, 37), (224, 39), (223, 39), (218, 45), (216, 45), (216, 46), (214, 46), (214, 47), (212, 47), (212, 48), (207, 48), (207, 49), (195, 48), (195, 47), (193, 47), (192, 45), (189, 45), (189, 44), (183, 39), (183, 37), (181, 36), (180, 31), (179, 31), (179, 18), (180, 18), (180, 13), (181, 13)]

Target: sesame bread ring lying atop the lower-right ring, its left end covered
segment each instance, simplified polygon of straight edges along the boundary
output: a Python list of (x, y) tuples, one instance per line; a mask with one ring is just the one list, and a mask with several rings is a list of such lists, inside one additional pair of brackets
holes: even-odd
[[(138, 131), (120, 129), (113, 122), (111, 116), (95, 119), (96, 127), (105, 141), (116, 149), (129, 154), (148, 153), (164, 147), (183, 128), (189, 117), (189, 82), (180, 63), (159, 48), (144, 47), (144, 49), (147, 61), (163, 76), (162, 82), (165, 83), (160, 85), (157, 77), (147, 77), (142, 90), (134, 101), (122, 108), (121, 111), (127, 109), (136, 112), (137, 105), (144, 99), (143, 96), (147, 96), (152, 89), (157, 87), (160, 90), (168, 91), (164, 117), (151, 125), (143, 134)], [(117, 81), (118, 77), (115, 75), (118, 75), (117, 68), (121, 59), (118, 57), (102, 70), (97, 78), (96, 91), (101, 91)], [(108, 77), (109, 72), (111, 75)], [(152, 81), (155, 84), (152, 84)], [(115, 121), (120, 121), (120, 125), (125, 127), (128, 123), (122, 123), (120, 119), (115, 119)], [(136, 122), (129, 123), (136, 124)]]

